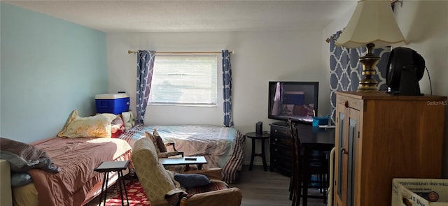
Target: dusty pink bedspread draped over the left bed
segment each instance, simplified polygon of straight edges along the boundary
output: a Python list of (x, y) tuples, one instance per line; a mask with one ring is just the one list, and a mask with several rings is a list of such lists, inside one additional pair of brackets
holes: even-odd
[(125, 140), (115, 138), (53, 138), (35, 146), (61, 168), (56, 174), (29, 171), (42, 206), (82, 205), (90, 189), (102, 181), (103, 174), (93, 169), (123, 155), (130, 159), (132, 151)]

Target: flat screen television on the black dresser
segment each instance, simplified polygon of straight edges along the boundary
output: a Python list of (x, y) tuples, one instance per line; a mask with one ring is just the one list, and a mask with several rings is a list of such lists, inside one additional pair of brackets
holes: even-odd
[(268, 118), (311, 124), (318, 91), (319, 82), (269, 82)]

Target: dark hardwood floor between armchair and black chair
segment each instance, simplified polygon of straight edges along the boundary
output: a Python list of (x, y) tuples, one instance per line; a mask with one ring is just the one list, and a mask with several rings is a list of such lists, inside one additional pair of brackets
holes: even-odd
[[(262, 166), (253, 166), (251, 171), (248, 165), (243, 166), (241, 176), (237, 183), (231, 184), (241, 189), (243, 200), (241, 206), (286, 206), (291, 205), (289, 200), (289, 177), (278, 172), (263, 170)], [(317, 195), (316, 189), (309, 189), (309, 193)], [(302, 205), (302, 201), (300, 203)], [(309, 206), (326, 206), (322, 199), (308, 198)]]

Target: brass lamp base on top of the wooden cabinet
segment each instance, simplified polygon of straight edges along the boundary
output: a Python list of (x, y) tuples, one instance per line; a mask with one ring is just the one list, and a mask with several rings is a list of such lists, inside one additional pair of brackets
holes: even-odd
[(367, 54), (359, 58), (360, 63), (363, 64), (364, 78), (359, 81), (359, 87), (357, 91), (378, 91), (378, 82), (377, 80), (374, 80), (372, 76), (377, 74), (377, 71), (375, 71), (374, 67), (377, 66), (380, 58), (372, 53), (373, 47), (375, 46), (373, 43), (368, 43), (365, 46), (367, 47)]

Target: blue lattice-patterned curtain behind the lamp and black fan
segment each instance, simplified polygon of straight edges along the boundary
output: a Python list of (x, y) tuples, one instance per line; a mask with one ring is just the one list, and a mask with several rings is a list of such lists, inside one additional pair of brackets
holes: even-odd
[[(356, 91), (358, 89), (359, 80), (363, 78), (363, 65), (359, 62), (359, 57), (367, 54), (366, 47), (348, 49), (336, 46), (335, 41), (340, 34), (341, 31), (337, 31), (330, 37), (330, 109), (332, 122), (335, 122), (336, 115), (335, 91)], [(373, 53), (377, 57), (381, 57), (377, 64), (377, 75), (373, 78), (378, 81), (378, 89), (386, 91), (386, 68), (391, 47), (374, 49)]]

